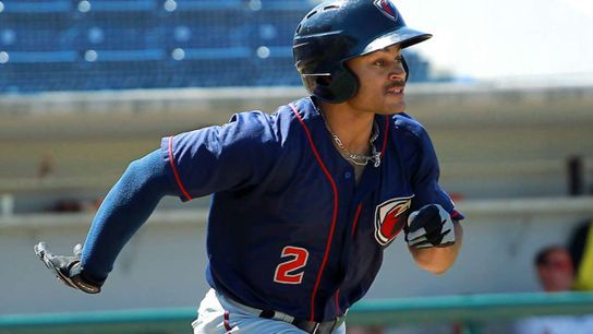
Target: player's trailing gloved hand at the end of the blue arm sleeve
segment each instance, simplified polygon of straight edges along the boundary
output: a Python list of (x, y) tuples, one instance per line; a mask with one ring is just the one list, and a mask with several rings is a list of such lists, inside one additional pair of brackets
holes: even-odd
[(61, 257), (49, 252), (45, 242), (39, 242), (34, 247), (37, 257), (63, 284), (87, 294), (98, 294), (101, 290), (102, 282), (95, 282), (84, 274), (81, 266), (82, 249), (82, 244), (78, 243), (74, 247), (73, 257)]

